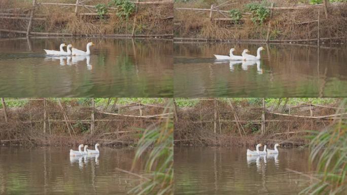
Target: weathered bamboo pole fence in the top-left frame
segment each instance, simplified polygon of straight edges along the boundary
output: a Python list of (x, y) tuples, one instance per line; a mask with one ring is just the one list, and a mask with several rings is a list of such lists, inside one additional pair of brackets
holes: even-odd
[[(36, 0), (32, 0), (32, 8), (30, 9), (30, 15), (27, 14), (14, 14), (14, 13), (0, 13), (0, 19), (13, 19), (13, 20), (28, 20), (27, 30), (11, 30), (11, 29), (2, 29), (0, 28), (0, 32), (13, 32), (16, 34), (25, 34), (26, 36), (30, 35), (37, 35), (37, 36), (96, 36), (96, 37), (159, 37), (159, 38), (171, 38), (173, 37), (173, 34), (162, 34), (162, 35), (136, 35), (134, 34), (134, 28), (136, 25), (136, 13), (138, 9), (138, 5), (158, 5), (158, 4), (173, 4), (173, 1), (152, 1), (152, 2), (140, 2), (136, 0), (136, 2), (131, 2), (135, 4), (136, 6), (136, 12), (134, 16), (134, 20), (132, 23), (132, 33), (131, 34), (93, 34), (93, 35), (86, 35), (86, 34), (75, 34), (75, 33), (59, 33), (59, 32), (33, 32), (31, 31), (31, 24), (33, 20), (46, 20), (49, 15), (38, 15), (39, 17), (34, 17), (34, 12), (38, 10), (41, 6), (64, 6), (64, 7), (75, 7), (75, 14), (76, 15), (97, 15), (95, 6), (91, 5), (85, 5), (85, 0), (76, 0), (75, 4), (65, 4), (65, 3), (37, 3)], [(80, 13), (78, 12), (78, 8), (85, 8), (88, 10), (88, 13)], [(109, 7), (110, 10), (117, 10), (117, 8)], [(11, 11), (16, 9), (10, 9), (5, 11)], [(114, 13), (109, 13), (106, 15), (114, 15)], [(164, 18), (164, 19), (173, 19), (173, 16)]]

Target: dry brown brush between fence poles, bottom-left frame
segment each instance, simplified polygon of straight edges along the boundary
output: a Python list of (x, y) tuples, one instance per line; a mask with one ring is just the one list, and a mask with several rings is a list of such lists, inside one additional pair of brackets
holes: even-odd
[[(0, 144), (78, 145), (79, 143), (133, 145), (144, 129), (156, 124), (156, 118), (114, 116), (95, 112), (94, 132), (90, 132), (92, 108), (75, 100), (61, 102), (73, 126), (72, 137), (64, 122), (63, 112), (56, 101), (47, 101), (46, 134), (43, 133), (43, 101), (30, 101), (23, 107), (8, 108), (8, 122), (0, 113)], [(103, 110), (103, 108), (97, 108)], [(142, 106), (144, 115), (161, 114), (163, 108)], [(110, 112), (110, 111), (108, 111)], [(118, 113), (114, 106), (112, 112)], [(139, 115), (138, 105), (120, 108), (121, 114)]]

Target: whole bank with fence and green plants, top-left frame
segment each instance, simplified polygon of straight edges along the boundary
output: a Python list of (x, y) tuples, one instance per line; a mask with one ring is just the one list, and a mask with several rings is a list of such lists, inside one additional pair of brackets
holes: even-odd
[[(149, 2), (149, 1), (147, 1)], [(135, 4), (128, 0), (37, 0), (32, 32), (73, 35), (170, 35), (173, 4)], [(45, 5), (59, 3), (66, 5)], [(145, 2), (146, 3), (146, 2)], [(0, 5), (2, 29), (26, 31), (32, 1), (5, 0)]]

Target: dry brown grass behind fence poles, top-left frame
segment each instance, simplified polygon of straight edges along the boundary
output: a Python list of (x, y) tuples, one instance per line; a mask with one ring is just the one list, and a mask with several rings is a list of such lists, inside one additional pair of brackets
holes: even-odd
[[(48, 2), (48, 1), (39, 1)], [(55, 1), (59, 3), (74, 4), (76, 1)], [(90, 1), (88, 5), (98, 3), (107, 4), (109, 1)], [(6, 0), (0, 5), (0, 10), (21, 8), (12, 10), (11, 13), (26, 14), (32, 5), (28, 2), (15, 2)], [(136, 15), (135, 34), (164, 35), (172, 34), (172, 4), (138, 5), (136, 14), (132, 14), (127, 20), (115, 15), (114, 10), (109, 10), (110, 15), (105, 19), (98, 16), (76, 15), (75, 7), (60, 7), (41, 5), (35, 12), (35, 17), (45, 17), (46, 20), (34, 20), (32, 31), (35, 32), (67, 32), (73, 34), (131, 34), (134, 16)], [(89, 10), (79, 7), (78, 13), (90, 13)], [(0, 19), (0, 26), (5, 29), (26, 30), (27, 20)]]

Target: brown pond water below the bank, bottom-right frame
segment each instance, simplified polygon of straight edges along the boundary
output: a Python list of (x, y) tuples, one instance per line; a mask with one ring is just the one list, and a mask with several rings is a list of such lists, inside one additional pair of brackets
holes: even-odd
[(308, 149), (265, 157), (248, 157), (246, 149), (175, 147), (175, 194), (298, 194), (307, 186), (309, 179), (286, 168), (309, 172)]

